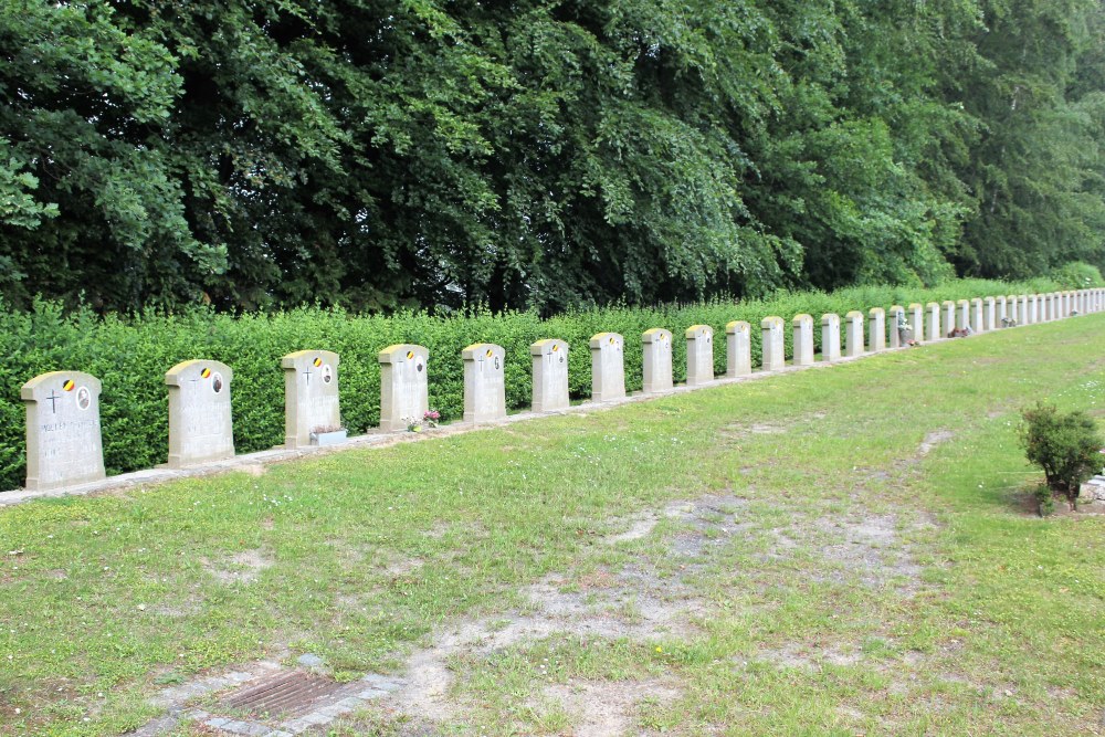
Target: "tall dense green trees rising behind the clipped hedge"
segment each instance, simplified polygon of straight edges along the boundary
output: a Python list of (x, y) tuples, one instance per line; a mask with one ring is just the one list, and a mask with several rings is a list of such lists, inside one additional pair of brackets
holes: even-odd
[(0, 8), (0, 297), (536, 309), (1105, 264), (1091, 0)]

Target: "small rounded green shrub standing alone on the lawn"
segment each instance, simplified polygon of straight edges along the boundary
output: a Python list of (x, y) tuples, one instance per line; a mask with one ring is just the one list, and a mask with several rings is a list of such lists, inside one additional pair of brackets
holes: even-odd
[(1063, 414), (1043, 402), (1022, 417), (1021, 442), (1029, 461), (1043, 468), (1048, 488), (1063, 494), (1071, 509), (1077, 509), (1082, 483), (1101, 467), (1102, 438), (1096, 423), (1085, 412)]

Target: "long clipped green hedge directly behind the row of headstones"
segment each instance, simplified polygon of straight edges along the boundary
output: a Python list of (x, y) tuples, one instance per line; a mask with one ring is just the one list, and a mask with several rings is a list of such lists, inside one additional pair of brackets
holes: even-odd
[[(596, 333), (625, 336), (625, 388), (641, 388), (640, 335), (665, 327), (675, 335), (675, 380), (686, 373), (683, 330), (694, 324), (714, 327), (719, 348), (715, 370), (725, 372), (725, 324), (751, 324), (753, 361), (759, 360), (759, 320), (778, 315), (788, 322), (808, 313), (817, 325), (823, 313), (843, 316), (851, 309), (907, 306), (964, 297), (1045, 292), (1054, 282), (1008, 284), (951, 282), (930, 289), (856, 287), (823, 294), (779, 294), (740, 303), (672, 305), (648, 309), (608, 307), (540, 319), (532, 313), (469, 314), (434, 317), (403, 313), (388, 317), (355, 316), (338, 309), (303, 308), (241, 317), (196, 309), (185, 314), (97, 317), (90, 310), (65, 314), (53, 303), (32, 310), (0, 310), (0, 350), (9, 359), (0, 367), (0, 489), (23, 482), (24, 410), (19, 390), (29, 379), (53, 370), (83, 370), (104, 385), (101, 412), (104, 460), (109, 474), (151, 467), (168, 453), (168, 396), (165, 372), (191, 358), (228, 364), (232, 387), (234, 439), (238, 451), (272, 448), (284, 438), (284, 381), (280, 358), (301, 349), (328, 349), (341, 356), (341, 415), (351, 433), (362, 433), (380, 418), (380, 369), (377, 354), (393, 343), (413, 343), (430, 351), (430, 403), (444, 420), (463, 412), (461, 349), (473, 343), (496, 343), (506, 349), (506, 399), (512, 409), (529, 406), (529, 345), (561, 338), (570, 346), (569, 382), (575, 398), (590, 394), (588, 339)], [(814, 330), (820, 338), (820, 328)], [(787, 350), (790, 351), (790, 330)]]

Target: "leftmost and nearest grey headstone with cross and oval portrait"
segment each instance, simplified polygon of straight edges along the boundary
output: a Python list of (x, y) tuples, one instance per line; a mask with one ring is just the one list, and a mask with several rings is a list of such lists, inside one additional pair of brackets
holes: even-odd
[(51, 371), (20, 390), (27, 406), (27, 488), (44, 492), (99, 481), (99, 379), (82, 371)]

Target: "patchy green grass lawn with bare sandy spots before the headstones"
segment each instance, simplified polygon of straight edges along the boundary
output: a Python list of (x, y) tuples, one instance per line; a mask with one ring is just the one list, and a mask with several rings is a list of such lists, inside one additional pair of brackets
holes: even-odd
[(304, 653), (400, 684), (332, 735), (1105, 734), (1105, 505), (1027, 512), (1036, 399), (1105, 412), (1105, 314), (0, 508), (0, 734)]

